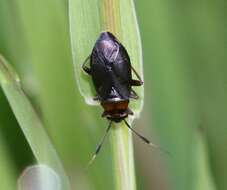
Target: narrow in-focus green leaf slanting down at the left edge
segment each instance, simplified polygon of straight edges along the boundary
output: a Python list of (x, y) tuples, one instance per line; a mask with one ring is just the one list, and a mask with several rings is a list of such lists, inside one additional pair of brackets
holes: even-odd
[(20, 79), (0, 55), (0, 84), (39, 163), (51, 167), (61, 178), (62, 189), (69, 189), (68, 179), (42, 122), (25, 95)]

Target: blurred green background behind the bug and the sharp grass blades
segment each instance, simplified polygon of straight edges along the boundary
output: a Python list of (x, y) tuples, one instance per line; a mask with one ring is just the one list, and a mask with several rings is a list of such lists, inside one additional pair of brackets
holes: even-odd
[[(138, 189), (227, 189), (227, 25), (224, 1), (135, 1), (145, 107), (134, 127)], [(85, 42), (86, 43), (86, 42)], [(74, 80), (67, 1), (0, 0), (0, 53), (19, 73), (73, 189), (114, 189), (110, 145), (84, 170), (107, 121), (85, 104)], [(0, 189), (35, 164), (0, 91)]]

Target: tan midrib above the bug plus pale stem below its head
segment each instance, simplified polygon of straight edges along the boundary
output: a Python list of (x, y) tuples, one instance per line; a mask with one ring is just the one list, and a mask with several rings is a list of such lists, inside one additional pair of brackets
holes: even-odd
[[(122, 39), (121, 11), (119, 0), (103, 0), (103, 28)], [(113, 165), (115, 171), (116, 189), (135, 190), (132, 135), (123, 122), (114, 124), (111, 131), (113, 150)]]

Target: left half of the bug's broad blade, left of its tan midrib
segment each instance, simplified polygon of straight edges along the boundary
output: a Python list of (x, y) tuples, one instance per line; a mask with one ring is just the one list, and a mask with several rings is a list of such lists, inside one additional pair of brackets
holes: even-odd
[(94, 88), (85, 76), (81, 65), (90, 55), (91, 49), (101, 30), (98, 0), (69, 0), (69, 19), (73, 65), (80, 93), (85, 101), (94, 105)]

